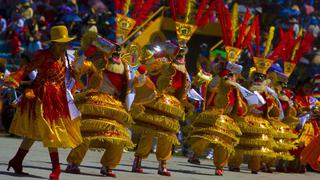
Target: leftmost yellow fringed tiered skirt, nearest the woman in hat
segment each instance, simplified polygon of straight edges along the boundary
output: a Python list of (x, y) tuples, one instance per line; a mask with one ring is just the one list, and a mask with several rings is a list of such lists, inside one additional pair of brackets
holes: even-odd
[(104, 149), (106, 142), (134, 147), (128, 131), (133, 121), (119, 100), (91, 90), (77, 94), (75, 103), (82, 114), (82, 136), (90, 140), (91, 149)]

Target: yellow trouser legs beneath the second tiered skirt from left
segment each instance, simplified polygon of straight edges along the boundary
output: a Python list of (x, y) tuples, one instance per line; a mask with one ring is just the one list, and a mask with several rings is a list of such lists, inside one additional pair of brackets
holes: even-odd
[[(153, 136), (142, 135), (139, 141), (135, 156), (146, 159), (152, 148)], [(158, 161), (167, 161), (171, 159), (172, 143), (166, 138), (158, 138), (156, 156)]]

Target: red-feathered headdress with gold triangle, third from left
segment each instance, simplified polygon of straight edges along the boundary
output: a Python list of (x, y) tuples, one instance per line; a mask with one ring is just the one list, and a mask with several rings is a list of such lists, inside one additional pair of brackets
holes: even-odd
[[(255, 24), (258, 23), (258, 17), (255, 18), (252, 25), (247, 29), (250, 21), (250, 11), (247, 9), (242, 23), (238, 23), (238, 4), (235, 3), (232, 10), (232, 16), (224, 3), (218, 1), (217, 14), (222, 31), (222, 39), (227, 53), (227, 60), (236, 63), (240, 57), (242, 49), (250, 46), (250, 42), (255, 31)], [(239, 27), (239, 30), (238, 30)], [(238, 30), (238, 33), (236, 33)]]

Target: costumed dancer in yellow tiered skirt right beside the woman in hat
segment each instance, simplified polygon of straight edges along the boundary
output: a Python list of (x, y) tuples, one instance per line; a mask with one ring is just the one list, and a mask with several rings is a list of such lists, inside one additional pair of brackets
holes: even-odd
[[(103, 167), (101, 174), (116, 177), (112, 169), (119, 164), (123, 149), (133, 147), (128, 132), (133, 121), (128, 110), (134, 98), (131, 86), (134, 75), (131, 67), (121, 60), (119, 45), (101, 36), (97, 36), (92, 44), (99, 51), (95, 53), (103, 54), (106, 66), (101, 70), (100, 78), (97, 75), (98, 79), (89, 77), (97, 87), (89, 85), (85, 92), (75, 96), (75, 103), (82, 113), (81, 133), (84, 142), (70, 152), (66, 171), (80, 173), (79, 165), (88, 149), (103, 149), (105, 152), (100, 161)], [(89, 64), (92, 63), (84, 62), (84, 67), (79, 69), (80, 75), (87, 73), (83, 70)], [(94, 76), (94, 73), (98, 72), (93, 68), (91, 76)]]

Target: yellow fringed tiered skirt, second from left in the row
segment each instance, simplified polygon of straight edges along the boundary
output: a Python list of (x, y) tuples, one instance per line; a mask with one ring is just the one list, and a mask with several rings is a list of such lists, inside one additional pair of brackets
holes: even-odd
[(132, 129), (138, 134), (166, 138), (172, 144), (179, 144), (179, 120), (184, 118), (184, 108), (174, 96), (162, 94), (145, 105), (136, 105), (131, 111), (135, 121)]

